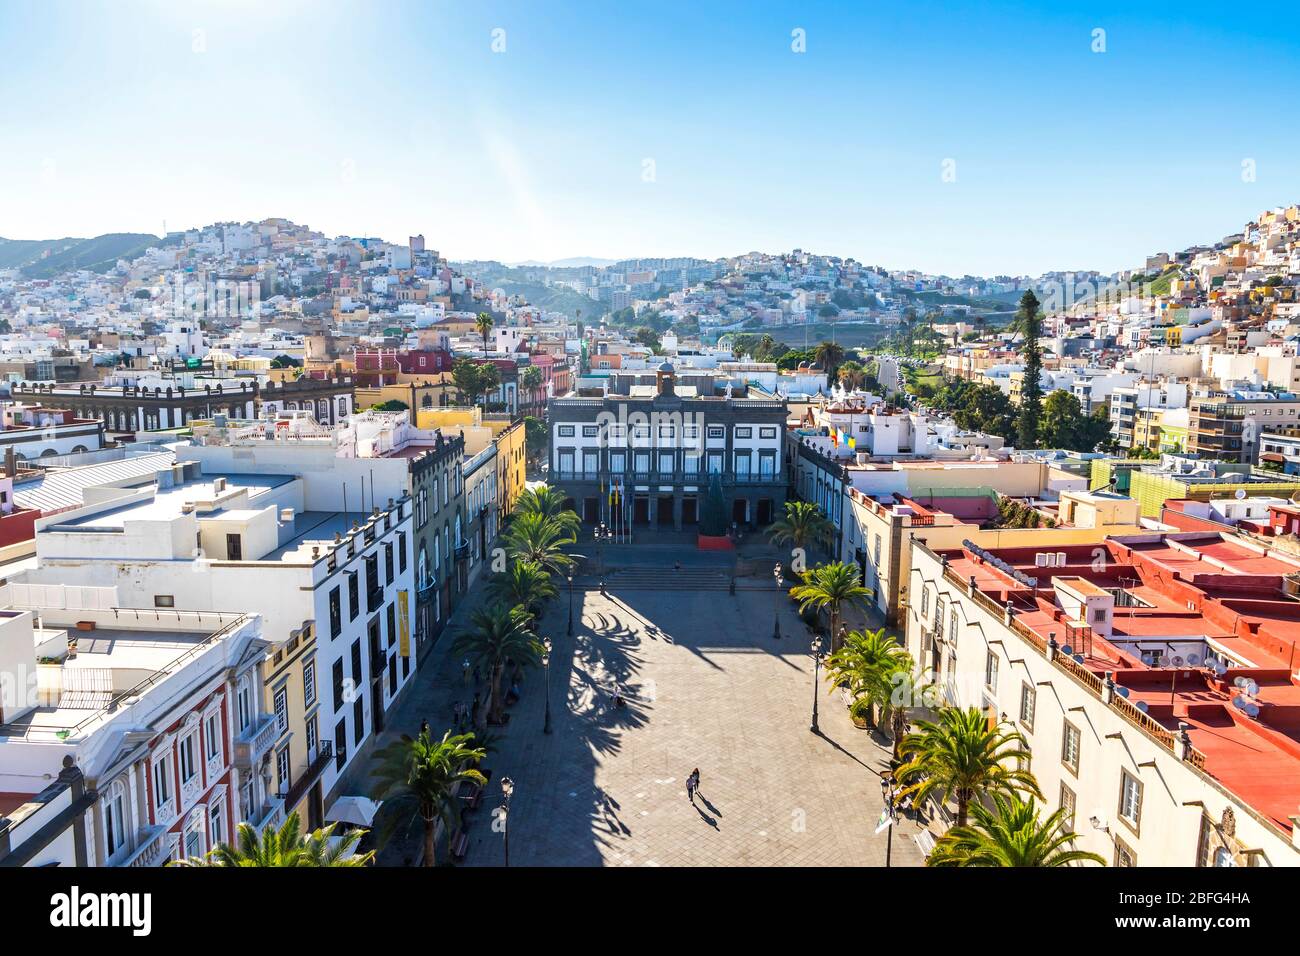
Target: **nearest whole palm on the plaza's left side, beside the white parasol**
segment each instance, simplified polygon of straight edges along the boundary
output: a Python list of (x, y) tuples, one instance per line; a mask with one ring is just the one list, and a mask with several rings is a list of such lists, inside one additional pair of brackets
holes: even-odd
[(442, 740), (434, 740), (422, 730), (417, 737), (403, 734), (400, 740), (374, 754), (377, 766), (370, 777), (376, 778), (374, 799), (384, 801), (385, 842), (399, 823), (419, 816), (424, 822), (424, 865), (437, 864), (438, 821), (447, 834), (460, 823), (458, 784), (462, 780), (480, 787), (488, 783), (474, 769), (488, 752), (473, 743), (473, 734), (452, 736), (447, 731)]

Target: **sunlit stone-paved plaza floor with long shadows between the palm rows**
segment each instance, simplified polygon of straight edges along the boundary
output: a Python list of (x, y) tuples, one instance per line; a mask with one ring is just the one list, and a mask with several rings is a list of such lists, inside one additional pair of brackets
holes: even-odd
[[(543, 617), (538, 631), (554, 641), (552, 732), (542, 732), (542, 670), (529, 671), (485, 761), (493, 782), (468, 829), (465, 864), (504, 862), (491, 809), (500, 778), (510, 777), (512, 866), (884, 865), (885, 835), (874, 830), (885, 741), (855, 728), (824, 683), (822, 734), (809, 731), (812, 658), (794, 605), (780, 601), (783, 637), (775, 640), (771, 581), (746, 581), (736, 594), (725, 584), (677, 588), (675, 574), (693, 588), (707, 583), (668, 559), (662, 587), (650, 589), (645, 568), (654, 555), (625, 563), (637, 567), (624, 575), (628, 587), (612, 574), (607, 596), (575, 589), (572, 637), (564, 591)], [(391, 715), (395, 731), (415, 732), (424, 717), (441, 730), (454, 704), (472, 697), (450, 643), (445, 636)], [(615, 683), (624, 708), (610, 702)], [(685, 790), (693, 767), (701, 774), (694, 805)], [(893, 865), (920, 864), (915, 832), (911, 821), (898, 825)], [(381, 862), (403, 862), (393, 856)]]

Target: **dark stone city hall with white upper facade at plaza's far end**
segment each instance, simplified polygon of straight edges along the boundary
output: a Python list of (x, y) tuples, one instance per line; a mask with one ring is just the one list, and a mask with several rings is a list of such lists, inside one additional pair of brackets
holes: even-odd
[(584, 524), (690, 528), (712, 475), (731, 523), (771, 524), (785, 502), (785, 402), (733, 395), (712, 373), (679, 385), (667, 362), (649, 375), (549, 402), (551, 484)]

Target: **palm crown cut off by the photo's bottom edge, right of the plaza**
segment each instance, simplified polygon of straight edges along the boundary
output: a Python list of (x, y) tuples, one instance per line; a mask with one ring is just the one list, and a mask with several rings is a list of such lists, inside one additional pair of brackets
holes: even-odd
[(971, 805), (975, 822), (954, 826), (926, 860), (927, 866), (1070, 866), (1106, 865), (1096, 853), (1071, 849), (1078, 834), (1066, 827), (1065, 808), (1039, 819), (1037, 804), (993, 793), (993, 806)]

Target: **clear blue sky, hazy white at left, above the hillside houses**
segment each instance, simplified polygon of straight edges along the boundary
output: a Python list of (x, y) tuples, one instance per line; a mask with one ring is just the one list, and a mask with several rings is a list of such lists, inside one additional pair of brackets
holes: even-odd
[(0, 0), (0, 235), (1109, 272), (1300, 202), (1297, 77), (1297, 3)]

